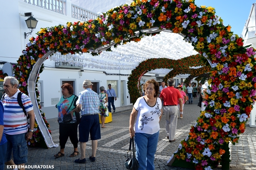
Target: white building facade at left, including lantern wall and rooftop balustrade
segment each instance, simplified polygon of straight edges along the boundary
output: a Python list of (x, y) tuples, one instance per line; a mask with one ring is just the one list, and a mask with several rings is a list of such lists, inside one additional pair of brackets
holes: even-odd
[[(127, 2), (130, 3), (130, 1)], [(24, 34), (28, 33), (29, 29), (25, 22), (28, 17), (24, 16), (24, 13), (28, 12), (33, 13), (33, 17), (38, 20), (38, 23), (32, 34), (26, 38)], [(96, 12), (72, 4), (71, 0), (2, 0), (0, 1), (0, 14), (2, 23), (0, 25), (1, 68), (5, 62), (17, 63), (22, 50), (26, 49), (29, 38), (36, 37), (40, 28), (65, 25), (67, 22), (88, 21), (96, 19), (99, 15)], [(58, 54), (55, 55), (58, 56)], [(109, 63), (127, 64), (127, 62), (104, 59), (88, 53), (83, 55), (93, 59), (94, 63), (88, 64), (87, 67), (73, 67), (70, 64), (63, 66), (49, 59), (44, 62), (45, 69), (39, 75), (38, 90), (40, 91), (42, 111), (45, 112), (46, 118), (58, 116), (55, 105), (62, 96), (61, 85), (63, 83), (72, 84), (74, 94), (78, 95), (83, 90), (82, 82), (85, 79), (92, 81), (94, 84), (93, 90), (97, 93), (100, 92), (99, 87), (104, 86), (107, 90), (108, 84), (112, 84), (112, 88), (115, 89), (117, 95), (116, 107), (132, 104), (127, 88), (128, 77), (132, 69), (101, 69), (103, 67), (96, 67)], [(149, 79), (157, 80), (156, 75), (152, 73), (145, 74), (141, 80)], [(175, 77), (175, 80), (176, 85), (182, 81), (181, 78), (177, 77)]]

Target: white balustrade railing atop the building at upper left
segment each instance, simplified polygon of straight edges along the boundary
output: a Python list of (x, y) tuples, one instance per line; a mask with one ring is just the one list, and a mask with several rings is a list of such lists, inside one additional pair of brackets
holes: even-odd
[(23, 2), (81, 21), (94, 20), (99, 16), (97, 13), (71, 4), (70, 0), (23, 0)]

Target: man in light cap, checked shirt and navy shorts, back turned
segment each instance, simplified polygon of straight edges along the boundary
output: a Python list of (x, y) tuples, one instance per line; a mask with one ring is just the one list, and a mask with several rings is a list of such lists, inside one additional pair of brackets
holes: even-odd
[(97, 140), (101, 138), (99, 121), (100, 98), (99, 95), (92, 90), (92, 86), (93, 84), (90, 80), (83, 81), (83, 88), (85, 90), (79, 93), (76, 102), (76, 108), (81, 110), (82, 117), (80, 118), (79, 124), (81, 157), (76, 159), (75, 163), (86, 163), (85, 149), (86, 142), (89, 140), (89, 134), (92, 140), (92, 156), (90, 156), (89, 159), (92, 162), (96, 161)]

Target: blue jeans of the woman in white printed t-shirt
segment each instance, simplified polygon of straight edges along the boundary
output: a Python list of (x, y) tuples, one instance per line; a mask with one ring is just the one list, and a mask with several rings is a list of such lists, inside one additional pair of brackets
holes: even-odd
[(139, 162), (138, 170), (154, 170), (155, 152), (158, 143), (159, 131), (153, 135), (135, 133), (136, 158)]

